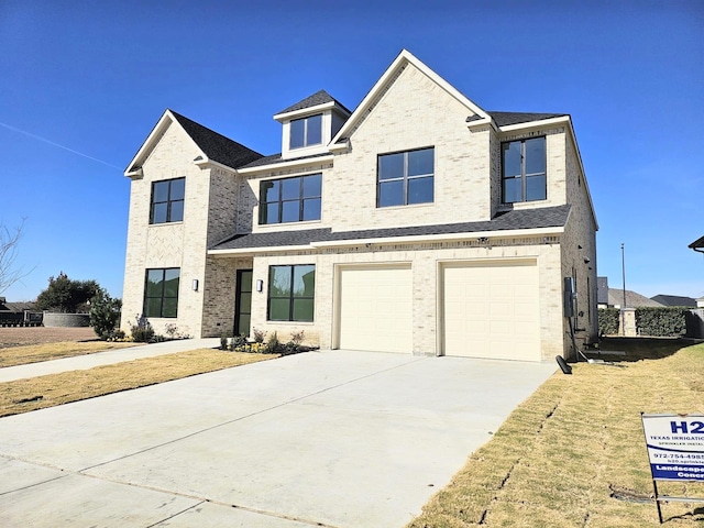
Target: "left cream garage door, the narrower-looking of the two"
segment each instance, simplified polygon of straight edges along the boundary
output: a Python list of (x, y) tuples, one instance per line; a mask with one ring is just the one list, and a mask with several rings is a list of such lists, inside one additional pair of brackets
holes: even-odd
[(413, 351), (411, 271), (404, 267), (340, 270), (340, 348)]

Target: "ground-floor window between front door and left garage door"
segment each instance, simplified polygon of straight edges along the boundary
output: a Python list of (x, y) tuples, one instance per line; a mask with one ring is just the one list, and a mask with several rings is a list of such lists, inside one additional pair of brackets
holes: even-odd
[(270, 266), (270, 321), (312, 321), (316, 293), (316, 266)]

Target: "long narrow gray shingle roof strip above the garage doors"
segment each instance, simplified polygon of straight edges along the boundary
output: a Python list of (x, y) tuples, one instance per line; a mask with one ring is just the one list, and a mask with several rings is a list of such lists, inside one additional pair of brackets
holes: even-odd
[(216, 244), (211, 250), (243, 250), (254, 248), (278, 248), (286, 245), (308, 245), (312, 242), (354, 241), (367, 239), (394, 239), (398, 237), (424, 237), (433, 234), (476, 233), (506, 231), (513, 229), (557, 228), (565, 224), (570, 213), (569, 205), (508, 211), (492, 220), (482, 222), (441, 223), (407, 228), (367, 229), (361, 231), (337, 231), (330, 228), (271, 233), (234, 234)]

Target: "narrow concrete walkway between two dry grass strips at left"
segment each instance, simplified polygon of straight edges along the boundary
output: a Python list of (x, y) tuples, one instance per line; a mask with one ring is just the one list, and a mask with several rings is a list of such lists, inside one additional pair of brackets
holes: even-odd
[(56, 374), (58, 372), (85, 371), (94, 366), (111, 365), (123, 361), (139, 360), (140, 358), (153, 358), (155, 355), (173, 354), (196, 349), (215, 349), (217, 346), (220, 346), (219, 338), (177, 339), (163, 343), (142, 344), (127, 349), (96, 352), (95, 354), (30, 363), (28, 365), (8, 366), (0, 369), (0, 383), (43, 376), (45, 374)]

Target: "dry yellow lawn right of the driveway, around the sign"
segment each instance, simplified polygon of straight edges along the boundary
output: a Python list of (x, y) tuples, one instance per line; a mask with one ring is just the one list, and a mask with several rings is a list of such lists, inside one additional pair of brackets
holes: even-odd
[[(409, 528), (660, 526), (640, 413), (704, 413), (704, 344), (616, 344), (630, 349), (620, 367), (581, 363), (552, 376)], [(702, 483), (658, 487), (704, 497)], [(704, 522), (701, 503), (662, 512), (664, 526)]]

